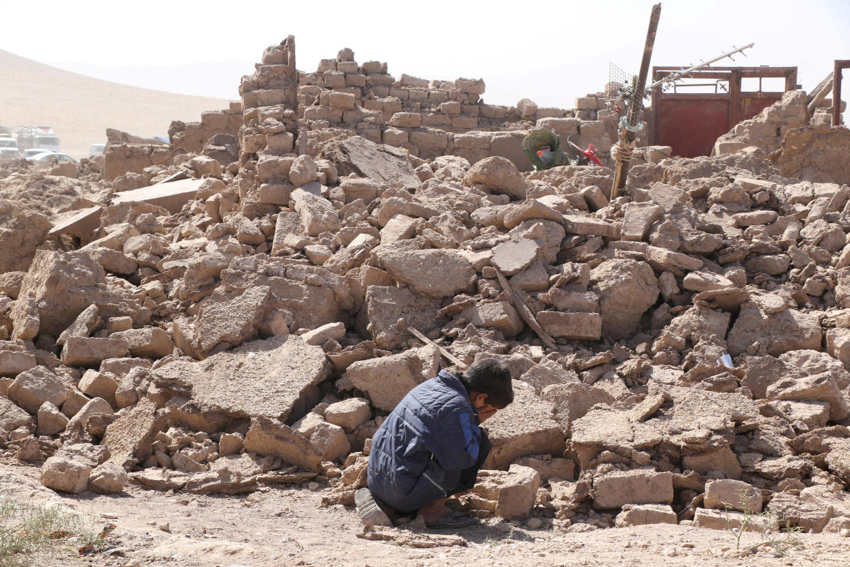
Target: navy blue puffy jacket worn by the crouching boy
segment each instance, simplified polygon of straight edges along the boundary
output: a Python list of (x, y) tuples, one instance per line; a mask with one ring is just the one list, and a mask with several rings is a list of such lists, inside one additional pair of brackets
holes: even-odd
[[(466, 388), (453, 374), (440, 371), (419, 384), (372, 438), (367, 478), (372, 494), (399, 512), (413, 512), (456, 493), (462, 470), (480, 466), (479, 423)], [(489, 451), (486, 436), (484, 445)]]

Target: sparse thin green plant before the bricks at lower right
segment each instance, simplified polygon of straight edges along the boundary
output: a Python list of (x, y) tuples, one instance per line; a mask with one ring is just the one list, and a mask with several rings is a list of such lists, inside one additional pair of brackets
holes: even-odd
[[(740, 490), (738, 496), (741, 508), (744, 509), (740, 519), (733, 519), (729, 516), (729, 510), (732, 507), (728, 504), (726, 505), (725, 513), (727, 524), (732, 524), (733, 522), (740, 523), (738, 526), (728, 528), (735, 537), (736, 551), (743, 549), (747, 553), (753, 553), (760, 547), (769, 547), (779, 557), (786, 557), (791, 552), (802, 547), (802, 540), (799, 537), (802, 531), (800, 526), (791, 526), (791, 522), (787, 519), (785, 519), (785, 525), (782, 525), (783, 522), (779, 519), (779, 514), (775, 512), (753, 512), (745, 490)], [(744, 535), (745, 531), (751, 531), (757, 534), (760, 541), (741, 547), (741, 536)]]

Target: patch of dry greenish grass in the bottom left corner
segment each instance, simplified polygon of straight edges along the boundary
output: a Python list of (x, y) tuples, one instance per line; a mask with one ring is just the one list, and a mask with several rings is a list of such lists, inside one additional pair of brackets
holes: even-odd
[(37, 506), (0, 496), (0, 567), (25, 567), (33, 556), (60, 549), (105, 548), (94, 519), (58, 506)]

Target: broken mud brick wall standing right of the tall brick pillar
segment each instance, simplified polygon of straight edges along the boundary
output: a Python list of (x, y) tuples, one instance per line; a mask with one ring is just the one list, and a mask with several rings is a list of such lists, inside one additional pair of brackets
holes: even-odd
[(405, 148), (424, 159), (462, 156), (477, 162), (505, 156), (530, 169), (519, 144), (520, 130), (552, 128), (573, 135), (582, 147), (593, 144), (606, 160), (619, 116), (606, 110), (602, 94), (577, 99), (577, 110), (539, 108), (529, 99), (516, 107), (484, 103), (484, 81), (458, 78), (428, 81), (388, 74), (387, 64), (354, 60), (343, 49), (336, 59), (321, 60), (316, 71), (302, 73), (298, 116), (311, 130), (348, 128), (360, 136)]

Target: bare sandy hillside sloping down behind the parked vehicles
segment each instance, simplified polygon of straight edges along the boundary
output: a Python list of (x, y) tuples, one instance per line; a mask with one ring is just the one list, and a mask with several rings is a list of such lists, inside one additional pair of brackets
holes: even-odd
[[(233, 90), (235, 97), (236, 85)], [(171, 121), (198, 120), (201, 111), (227, 104), (101, 81), (0, 50), (0, 124), (52, 126), (61, 150), (75, 157), (105, 142), (107, 127), (165, 136)]]

